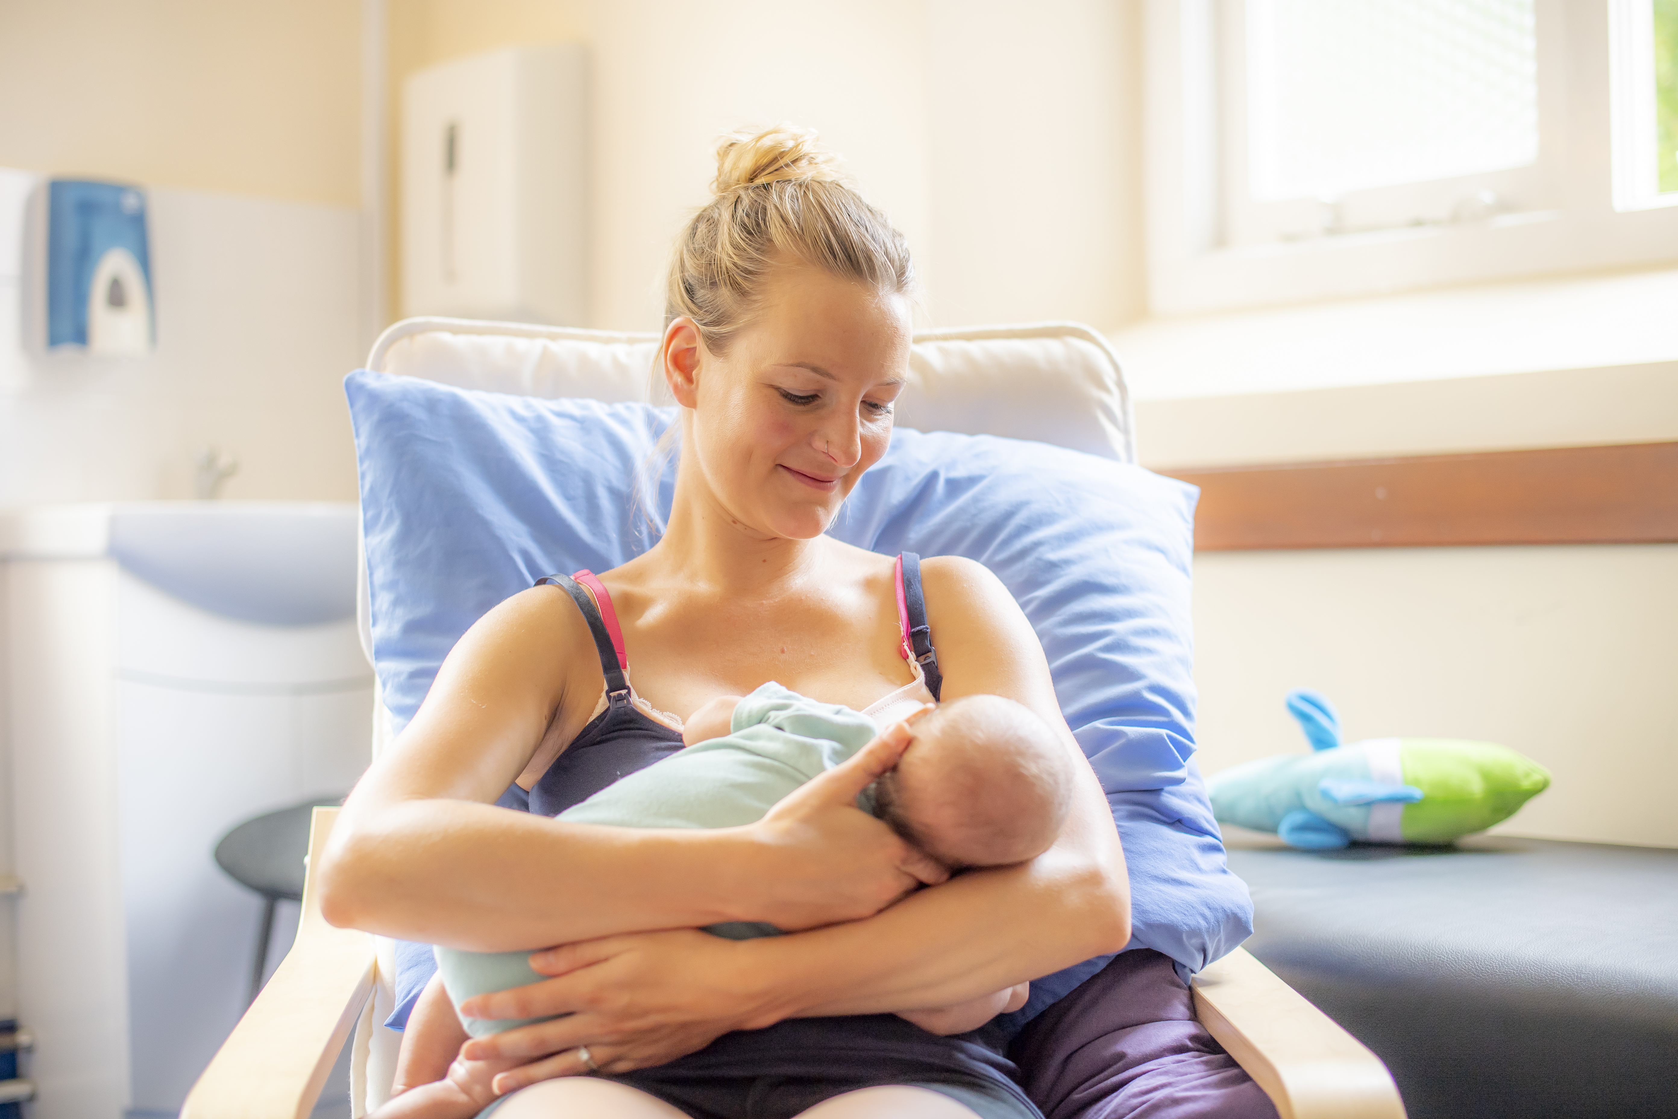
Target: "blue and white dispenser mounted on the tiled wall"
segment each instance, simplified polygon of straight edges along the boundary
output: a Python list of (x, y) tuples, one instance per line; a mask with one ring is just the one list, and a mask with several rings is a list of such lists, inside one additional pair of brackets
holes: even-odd
[(47, 346), (143, 356), (154, 337), (146, 195), (122, 183), (47, 185)]

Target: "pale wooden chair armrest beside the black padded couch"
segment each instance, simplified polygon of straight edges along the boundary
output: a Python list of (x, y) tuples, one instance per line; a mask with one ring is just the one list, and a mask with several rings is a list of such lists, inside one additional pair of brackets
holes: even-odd
[(1195, 1010), (1282, 1119), (1404, 1119), (1381, 1059), (1245, 948), (1195, 976)]

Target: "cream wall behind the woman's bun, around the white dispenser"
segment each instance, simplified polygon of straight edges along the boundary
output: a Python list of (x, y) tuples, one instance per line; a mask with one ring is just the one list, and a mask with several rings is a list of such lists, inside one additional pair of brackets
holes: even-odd
[(1141, 305), (1133, 0), (393, 0), (389, 22), (393, 112), (418, 65), (591, 47), (589, 325), (656, 327), (715, 138), (782, 119), (819, 129), (909, 238), (930, 320), (1116, 325)]

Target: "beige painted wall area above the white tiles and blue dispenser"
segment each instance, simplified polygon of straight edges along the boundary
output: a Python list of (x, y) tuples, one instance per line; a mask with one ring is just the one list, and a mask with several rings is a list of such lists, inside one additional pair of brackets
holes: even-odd
[(354, 206), (346, 0), (0, 0), (0, 166)]

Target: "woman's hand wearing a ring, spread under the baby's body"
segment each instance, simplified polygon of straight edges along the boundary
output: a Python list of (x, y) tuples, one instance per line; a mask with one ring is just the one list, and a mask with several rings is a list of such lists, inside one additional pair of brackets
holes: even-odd
[[(696, 929), (606, 936), (530, 956), (554, 978), (461, 1003), (475, 1018), (549, 1022), (466, 1042), (466, 1060), (515, 1059), (495, 1077), (512, 1092), (537, 1080), (584, 1072), (629, 1072), (675, 1060), (740, 1028), (779, 1018), (745, 956), (748, 945)], [(587, 1045), (589, 1067), (579, 1047)]]

